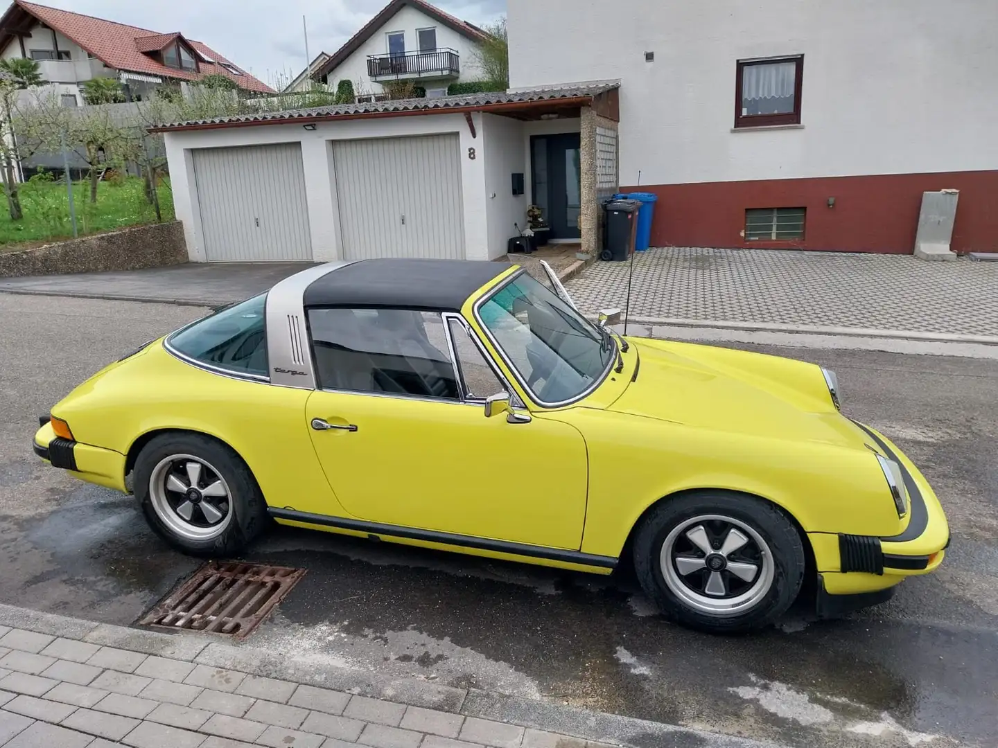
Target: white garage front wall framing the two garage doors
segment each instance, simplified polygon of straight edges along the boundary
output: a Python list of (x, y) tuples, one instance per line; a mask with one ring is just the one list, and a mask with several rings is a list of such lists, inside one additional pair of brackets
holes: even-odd
[[(165, 140), (174, 207), (177, 217), (184, 222), (188, 256), (193, 262), (202, 262), (206, 259), (201, 215), (195, 193), (192, 149), (300, 143), (313, 258), (325, 261), (341, 256), (339, 206), (336, 200), (331, 141), (457, 133), (460, 138), (466, 256), (468, 259), (492, 259), (498, 254), (490, 251), (485, 187), (486, 160), (481, 156), (483, 149), (481, 115), (475, 114), (472, 117), (479, 136), (477, 139), (471, 137), (463, 115), (424, 115), (326, 122), (318, 123), (311, 132), (304, 130), (300, 125), (269, 125), (167, 133)], [(468, 158), (469, 148), (476, 149), (476, 158), (473, 160)]]

